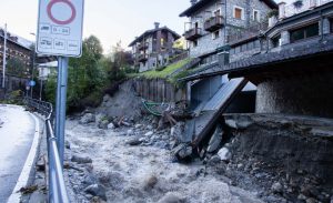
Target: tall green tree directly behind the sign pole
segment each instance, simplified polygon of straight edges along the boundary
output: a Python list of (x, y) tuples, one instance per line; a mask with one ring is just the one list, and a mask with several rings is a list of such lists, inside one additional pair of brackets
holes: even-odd
[[(80, 109), (89, 99), (93, 105), (101, 99), (100, 92), (103, 88), (105, 73), (100, 65), (103, 49), (100, 40), (91, 35), (83, 40), (82, 57), (71, 58), (69, 61), (68, 77), (68, 106)], [(56, 80), (51, 79), (47, 84), (48, 99), (54, 99)], [(49, 90), (48, 90), (49, 89)], [(54, 89), (54, 90), (52, 90)], [(51, 92), (54, 92), (51, 94)], [(93, 95), (93, 98), (91, 98)], [(88, 102), (88, 105), (89, 102)]]

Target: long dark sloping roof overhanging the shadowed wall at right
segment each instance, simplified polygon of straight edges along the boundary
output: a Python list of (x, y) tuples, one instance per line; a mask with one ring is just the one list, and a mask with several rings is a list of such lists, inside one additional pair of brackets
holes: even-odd
[(271, 64), (280, 64), (283, 62), (303, 60), (319, 55), (332, 55), (332, 53), (333, 37), (327, 35), (323, 39), (319, 37), (309, 41), (306, 40), (299, 43), (291, 43), (282, 47), (281, 50), (271, 50), (265, 53), (260, 53), (248, 59), (232, 62), (228, 65), (221, 67), (219, 63), (214, 63), (210, 67), (199, 69), (191, 75), (181, 80), (191, 81), (225, 73), (242, 75), (246, 71), (254, 71)]

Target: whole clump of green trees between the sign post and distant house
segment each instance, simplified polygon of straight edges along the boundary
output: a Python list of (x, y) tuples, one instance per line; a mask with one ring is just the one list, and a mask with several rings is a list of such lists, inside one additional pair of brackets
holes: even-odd
[[(113, 48), (109, 57), (102, 54), (99, 39), (89, 37), (82, 44), (82, 57), (70, 59), (68, 70), (68, 99), (70, 110), (83, 110), (98, 106), (109, 87), (125, 77), (131, 65), (131, 54), (121, 44)], [(130, 71), (129, 71), (130, 72)], [(51, 75), (46, 85), (48, 101), (54, 102), (57, 74)]]

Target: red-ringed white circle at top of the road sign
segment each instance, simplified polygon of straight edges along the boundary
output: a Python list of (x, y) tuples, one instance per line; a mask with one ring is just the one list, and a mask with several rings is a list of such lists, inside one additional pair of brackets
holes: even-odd
[[(61, 10), (61, 12), (57, 12)], [(69, 24), (77, 17), (77, 10), (69, 0), (51, 0), (48, 4), (47, 12), (49, 18), (57, 24)]]

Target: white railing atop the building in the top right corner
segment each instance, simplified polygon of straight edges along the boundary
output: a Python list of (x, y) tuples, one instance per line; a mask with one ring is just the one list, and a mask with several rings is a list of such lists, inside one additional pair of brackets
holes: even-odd
[(322, 4), (332, 2), (333, 0), (302, 0), (301, 6), (296, 6), (294, 3), (290, 3), (285, 6), (285, 13), (284, 17), (292, 17), (294, 14), (311, 10), (315, 7), (320, 7)]

